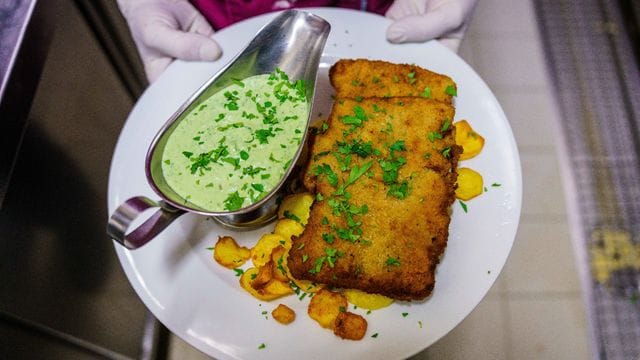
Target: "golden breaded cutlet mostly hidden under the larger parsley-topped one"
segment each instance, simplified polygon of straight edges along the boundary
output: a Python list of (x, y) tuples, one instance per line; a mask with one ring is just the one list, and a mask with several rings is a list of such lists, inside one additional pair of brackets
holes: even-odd
[(379, 60), (339, 60), (329, 78), (336, 98), (423, 96), (450, 104), (456, 94), (456, 84), (448, 76)]

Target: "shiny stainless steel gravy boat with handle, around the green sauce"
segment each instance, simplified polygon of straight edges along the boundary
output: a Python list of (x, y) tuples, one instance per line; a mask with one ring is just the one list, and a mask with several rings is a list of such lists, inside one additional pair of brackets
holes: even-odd
[[(289, 167), (276, 187), (260, 201), (235, 211), (208, 211), (177, 194), (167, 184), (162, 173), (164, 147), (178, 123), (211, 95), (232, 84), (234, 79), (271, 73), (276, 68), (287, 73), (294, 81), (304, 80), (309, 102), (308, 130), (318, 65), (330, 29), (330, 24), (324, 19), (299, 10), (284, 11), (265, 25), (244, 50), (180, 106), (152, 141), (147, 152), (145, 173), (149, 185), (161, 200), (154, 201), (144, 196), (128, 199), (109, 218), (107, 234), (128, 249), (136, 249), (186, 212), (210, 216), (223, 226), (236, 230), (253, 229), (271, 221), (276, 215), (279, 198), (286, 192), (291, 173), (302, 165), (304, 159), (301, 154), (308, 131), (304, 132), (301, 145), (292, 160), (294, 165)], [(140, 226), (127, 233), (138, 215), (154, 207), (159, 209)]]

